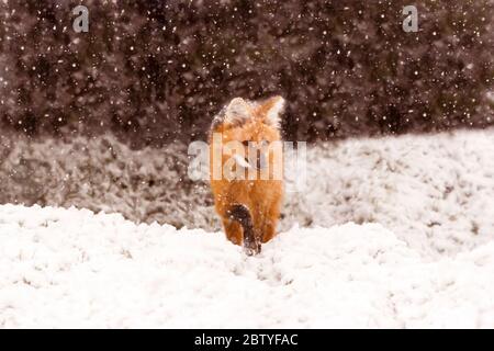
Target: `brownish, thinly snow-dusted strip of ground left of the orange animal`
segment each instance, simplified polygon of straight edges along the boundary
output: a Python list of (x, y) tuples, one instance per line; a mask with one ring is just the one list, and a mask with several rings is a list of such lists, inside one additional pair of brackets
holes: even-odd
[(187, 177), (187, 147), (131, 150), (114, 137), (3, 143), (0, 203), (119, 212), (135, 222), (211, 228), (209, 186)]

